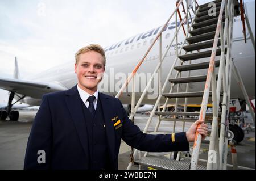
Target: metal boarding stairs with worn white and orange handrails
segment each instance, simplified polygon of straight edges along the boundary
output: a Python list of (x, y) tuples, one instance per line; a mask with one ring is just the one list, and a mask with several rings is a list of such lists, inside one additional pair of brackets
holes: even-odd
[[(171, 45), (174, 43), (174, 40), (176, 40), (176, 58), (174, 64), (170, 67), (166, 81), (164, 83), (159, 81), (159, 95), (143, 132), (150, 134), (166, 134), (158, 131), (162, 121), (172, 121), (174, 123), (172, 128), (173, 133), (176, 132), (176, 122), (183, 122), (182, 130), (185, 131), (185, 123), (196, 121), (197, 119), (191, 117), (197, 116), (199, 119), (203, 119), (205, 123), (208, 122), (212, 125), (210, 135), (202, 141), (201, 135), (196, 134), (192, 157), (186, 157), (181, 160), (181, 152), (176, 153), (176, 159), (173, 159), (172, 154), (174, 153), (170, 153), (169, 157), (158, 157), (151, 153), (144, 153), (142, 156), (141, 151), (133, 150), (131, 162), (127, 169), (131, 169), (131, 166), (133, 166), (134, 163), (139, 164), (139, 168), (141, 168), (141, 166), (146, 166), (154, 169), (169, 170), (226, 169), (226, 158), (228, 153), (227, 135), (229, 127), (229, 121), (226, 118), (229, 114), (230, 77), (233, 65), (231, 57), (233, 18), (234, 16), (240, 15), (240, 4), (237, 0), (217, 0), (210, 2), (210, 4), (206, 3), (200, 6), (195, 0), (191, 1), (190, 5), (189, 3), (185, 4), (186, 7), (184, 7), (183, 1), (177, 1), (176, 9), (171, 14), (171, 17), (168, 19), (167, 23), (164, 24), (162, 31), (156, 36), (155, 41), (152, 42), (152, 45), (143, 56), (142, 60), (139, 61), (138, 66), (134, 69), (133, 73), (127, 79), (125, 85), (123, 85), (116, 97), (119, 98), (122, 91), (126, 88), (129, 82), (132, 81), (133, 92), (130, 119), (133, 120), (135, 112), (146, 95), (147, 89), (152, 81), (152, 79), (150, 79), (141, 98), (135, 103), (134, 77), (136, 71), (147, 57), (152, 46), (158, 40), (159, 63), (156, 66), (154, 73), (158, 73), (161, 78), (162, 61), (166, 58), (168, 50), (170, 50)], [(181, 18), (181, 6), (183, 7), (184, 12), (183, 18)], [(216, 14), (209, 14), (209, 12), (216, 12)], [(175, 16), (176, 18), (176, 32), (166, 52), (163, 53), (162, 32), (168, 22), (170, 22), (172, 16)], [(177, 23), (178, 18), (180, 19), (179, 26)], [(183, 32), (181, 31), (181, 27)], [(183, 40), (183, 44), (180, 48), (177, 46), (178, 33), (184, 33), (185, 40)], [(204, 74), (191, 75), (192, 72), (202, 72)], [(172, 77), (171, 75), (175, 75), (175, 77)], [(204, 82), (201, 91), (190, 92), (189, 84), (197, 82)], [(166, 91), (165, 88), (167, 83), (171, 84), (171, 89)], [(180, 91), (180, 85), (185, 85), (185, 92)], [(191, 98), (201, 98), (200, 112), (187, 111), (187, 104)], [(163, 99), (163, 108), (160, 110), (160, 100)], [(175, 99), (175, 110), (168, 111), (166, 110), (167, 104), (172, 99)], [(184, 101), (183, 112), (177, 111), (177, 107), (180, 105), (181, 101)], [(212, 104), (212, 112), (207, 112), (209, 103)], [(151, 124), (154, 115), (158, 116), (158, 123), (155, 126), (154, 132), (148, 132), (148, 127)], [(218, 130), (219, 125), (221, 125), (220, 131)], [(202, 161), (202, 159), (199, 158), (201, 142), (209, 145), (208, 150), (213, 150), (211, 152), (209, 151), (208, 160), (205, 160), (207, 166), (200, 164), (200, 161)], [(216, 162), (211, 162), (213, 156), (216, 158)]]

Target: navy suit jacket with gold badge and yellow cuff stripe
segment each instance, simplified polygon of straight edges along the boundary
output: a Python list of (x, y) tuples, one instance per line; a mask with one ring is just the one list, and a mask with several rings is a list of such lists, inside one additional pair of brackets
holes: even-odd
[[(189, 150), (185, 132), (176, 133), (175, 141), (171, 140), (171, 134), (142, 133), (127, 117), (119, 99), (100, 92), (98, 96), (105, 119), (110, 162), (114, 169), (118, 169), (121, 138), (141, 151)], [(24, 169), (88, 169), (86, 158), (89, 153), (84, 144), (88, 140), (86, 132), (76, 86), (67, 91), (44, 95), (28, 138)], [(45, 151), (46, 163), (38, 163), (39, 150)]]

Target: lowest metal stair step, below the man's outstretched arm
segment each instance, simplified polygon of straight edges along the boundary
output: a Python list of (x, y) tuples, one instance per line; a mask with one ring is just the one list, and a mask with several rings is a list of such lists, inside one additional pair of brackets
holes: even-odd
[[(175, 159), (160, 158), (152, 155), (142, 157), (141, 159), (135, 159), (135, 163), (153, 167), (155, 169), (165, 170), (189, 170), (191, 163), (190, 159), (184, 159), (183, 161), (176, 161)], [(203, 165), (197, 165), (197, 170), (205, 170)]]

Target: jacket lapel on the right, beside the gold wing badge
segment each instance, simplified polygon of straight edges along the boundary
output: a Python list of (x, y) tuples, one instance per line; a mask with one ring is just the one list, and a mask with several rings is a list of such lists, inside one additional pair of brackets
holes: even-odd
[(108, 147), (110, 150), (110, 155), (112, 156), (113, 162), (114, 162), (114, 154), (115, 154), (115, 131), (114, 131), (114, 125), (111, 121), (112, 119), (112, 112), (113, 108), (111, 107), (109, 103), (108, 96), (105, 96), (101, 92), (98, 92), (98, 96), (100, 97), (101, 105), (102, 105), (102, 112), (104, 116), (104, 121), (106, 125), (106, 136), (108, 140)]

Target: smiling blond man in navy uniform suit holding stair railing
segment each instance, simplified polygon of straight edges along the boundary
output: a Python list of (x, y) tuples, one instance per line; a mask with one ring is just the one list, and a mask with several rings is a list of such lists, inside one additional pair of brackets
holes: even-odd
[(78, 83), (67, 91), (42, 98), (28, 138), (24, 169), (118, 169), (121, 138), (135, 149), (149, 152), (189, 150), (198, 131), (145, 134), (134, 125), (119, 99), (97, 91), (105, 71), (100, 45), (88, 45), (76, 53)]

